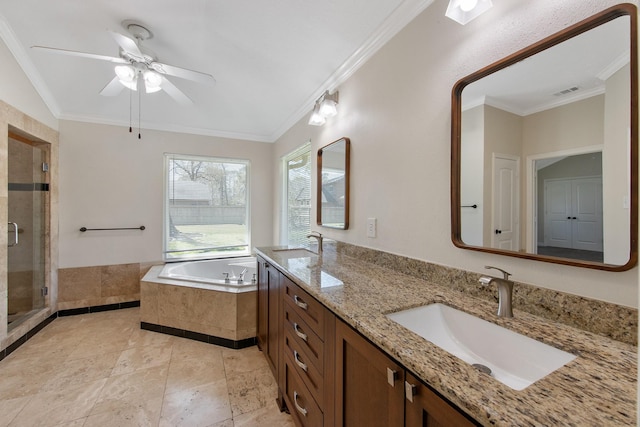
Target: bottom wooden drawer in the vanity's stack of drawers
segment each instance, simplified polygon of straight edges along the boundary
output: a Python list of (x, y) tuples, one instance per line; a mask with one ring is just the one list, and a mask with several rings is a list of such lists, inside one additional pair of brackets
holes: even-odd
[(284, 358), (285, 391), (289, 403), (289, 411), (298, 418), (303, 426), (322, 426), (324, 415), (313, 400), (311, 392), (291, 365), (289, 357)]

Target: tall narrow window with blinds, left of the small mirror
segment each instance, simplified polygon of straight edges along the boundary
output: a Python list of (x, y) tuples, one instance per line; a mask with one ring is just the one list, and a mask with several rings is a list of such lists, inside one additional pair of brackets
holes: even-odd
[(288, 245), (304, 245), (311, 231), (311, 144), (287, 155), (283, 165), (286, 197), (282, 240)]

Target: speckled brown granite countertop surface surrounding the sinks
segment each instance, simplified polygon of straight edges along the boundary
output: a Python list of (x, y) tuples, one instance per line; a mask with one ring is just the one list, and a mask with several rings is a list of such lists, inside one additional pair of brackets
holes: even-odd
[[(283, 248), (257, 248), (257, 253), (479, 423), (636, 425), (635, 346), (534, 316), (517, 306), (513, 318), (499, 318), (495, 304), (452, 290), (446, 283), (420, 280), (335, 251), (325, 250), (319, 257)], [(513, 390), (385, 316), (434, 302), (578, 357), (524, 390)]]

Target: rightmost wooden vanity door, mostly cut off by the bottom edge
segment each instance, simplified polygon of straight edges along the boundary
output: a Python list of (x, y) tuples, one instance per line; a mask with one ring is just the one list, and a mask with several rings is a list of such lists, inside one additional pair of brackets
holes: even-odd
[(422, 384), (410, 372), (406, 373), (406, 426), (446, 427), (475, 426), (465, 415)]

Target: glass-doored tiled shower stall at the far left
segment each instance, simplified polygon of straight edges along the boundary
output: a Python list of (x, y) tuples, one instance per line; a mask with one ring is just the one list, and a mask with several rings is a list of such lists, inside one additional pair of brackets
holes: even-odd
[(46, 306), (49, 144), (9, 132), (8, 331)]

